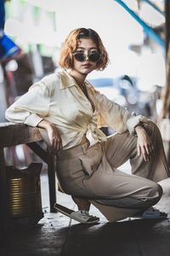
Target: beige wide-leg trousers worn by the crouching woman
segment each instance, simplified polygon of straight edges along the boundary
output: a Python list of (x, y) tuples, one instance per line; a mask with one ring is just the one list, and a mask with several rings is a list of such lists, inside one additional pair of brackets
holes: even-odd
[[(88, 143), (64, 150), (58, 158), (57, 177), (65, 193), (85, 198), (109, 221), (132, 216), (155, 205), (162, 189), (156, 182), (169, 177), (167, 160), (157, 126), (144, 125), (155, 151), (150, 162), (137, 153), (137, 137), (129, 132), (108, 137), (88, 148)], [(117, 168), (130, 160), (132, 175)]]

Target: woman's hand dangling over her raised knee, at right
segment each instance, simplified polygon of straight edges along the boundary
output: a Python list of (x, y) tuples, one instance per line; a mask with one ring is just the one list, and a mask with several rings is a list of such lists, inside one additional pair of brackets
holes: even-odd
[(137, 150), (138, 155), (142, 154), (144, 161), (150, 161), (154, 152), (153, 144), (150, 137), (147, 135), (146, 131), (142, 126), (137, 126), (135, 131), (138, 136), (137, 140)]

